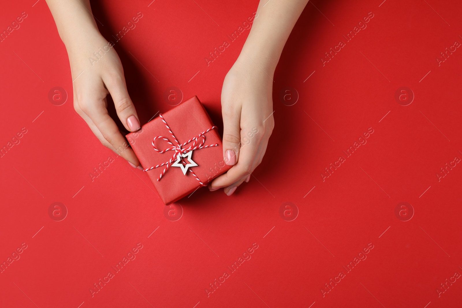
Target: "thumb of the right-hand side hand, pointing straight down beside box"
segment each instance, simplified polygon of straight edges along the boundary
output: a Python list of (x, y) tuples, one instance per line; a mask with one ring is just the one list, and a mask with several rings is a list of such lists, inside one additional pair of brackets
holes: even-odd
[(240, 110), (223, 112), (223, 157), (227, 165), (234, 165), (241, 149)]

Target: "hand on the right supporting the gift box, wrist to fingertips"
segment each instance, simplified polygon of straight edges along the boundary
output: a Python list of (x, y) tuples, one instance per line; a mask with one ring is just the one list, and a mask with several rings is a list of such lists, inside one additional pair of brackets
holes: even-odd
[(230, 196), (261, 163), (274, 127), (273, 73), (244, 52), (226, 74), (221, 91), (223, 157), (233, 167), (209, 184), (210, 191), (225, 187)]

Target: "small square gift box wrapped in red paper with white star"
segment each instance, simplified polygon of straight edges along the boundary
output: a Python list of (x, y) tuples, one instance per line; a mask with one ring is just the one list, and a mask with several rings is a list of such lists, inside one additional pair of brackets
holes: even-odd
[(223, 159), (217, 128), (196, 96), (129, 133), (127, 139), (165, 205), (231, 168)]

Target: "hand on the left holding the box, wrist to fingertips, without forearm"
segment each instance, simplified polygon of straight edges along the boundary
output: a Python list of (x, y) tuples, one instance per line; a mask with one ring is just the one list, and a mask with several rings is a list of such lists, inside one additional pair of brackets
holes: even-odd
[(74, 109), (104, 146), (122, 156), (132, 167), (142, 169), (107, 110), (107, 95), (110, 94), (123, 126), (130, 132), (140, 129), (138, 115), (128, 95), (122, 63), (111, 43), (99, 31), (89, 32), (78, 45), (66, 46), (72, 72)]

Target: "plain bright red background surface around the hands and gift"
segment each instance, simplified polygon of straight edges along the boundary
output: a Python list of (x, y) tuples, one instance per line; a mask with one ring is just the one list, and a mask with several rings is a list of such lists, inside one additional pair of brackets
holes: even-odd
[[(92, 2), (107, 39), (143, 14), (115, 46), (141, 124), (172, 108), (164, 92), (175, 86), (197, 95), (221, 132), (222, 80), (249, 30), (209, 66), (204, 58), (257, 2)], [(440, 297), (437, 289), (462, 273), (462, 167), (436, 176), (462, 157), (462, 51), (436, 60), (462, 42), (460, 11), (458, 1), (309, 3), (274, 76), (276, 126), (263, 162), (231, 197), (200, 189), (180, 200), (171, 213), (182, 216), (171, 221), (147, 175), (103, 147), (73, 110), (66, 49), (45, 1), (3, 3), (1, 31), (28, 17), (0, 43), (0, 146), (27, 133), (0, 158), (0, 262), (27, 249), (0, 274), (0, 306), (460, 307), (460, 279)], [(323, 66), (369, 12), (367, 28)], [(68, 94), (61, 106), (48, 99), (55, 86)], [(408, 106), (395, 100), (402, 86), (415, 96)], [(286, 87), (298, 92), (292, 106), (279, 98)], [(370, 127), (367, 143), (323, 181)], [(108, 157), (115, 161), (91, 181)], [(49, 216), (54, 202), (67, 208), (62, 221)], [(295, 220), (280, 215), (286, 202)], [(395, 215), (401, 202), (412, 219)], [(92, 297), (138, 243), (136, 259)], [(207, 297), (253, 243), (251, 259)], [(367, 259), (323, 297), (369, 243)]]

